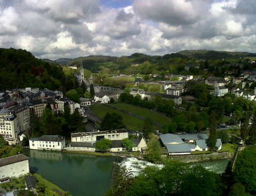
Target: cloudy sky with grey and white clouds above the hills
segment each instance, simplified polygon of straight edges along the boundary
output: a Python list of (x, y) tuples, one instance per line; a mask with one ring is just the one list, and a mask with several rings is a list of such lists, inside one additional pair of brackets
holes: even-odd
[(0, 48), (38, 58), (256, 53), (255, 0), (0, 0)]

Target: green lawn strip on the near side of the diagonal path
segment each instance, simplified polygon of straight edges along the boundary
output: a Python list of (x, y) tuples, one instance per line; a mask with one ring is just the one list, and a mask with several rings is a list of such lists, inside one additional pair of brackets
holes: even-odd
[[(115, 112), (116, 114), (119, 114), (123, 117), (123, 123), (126, 125), (126, 128), (130, 129), (130, 130), (141, 130), (141, 127), (144, 125), (144, 120), (138, 119), (134, 116), (125, 114), (121, 111), (118, 111), (114, 108), (111, 108), (111, 107), (108, 107), (105, 105), (99, 105), (99, 104), (95, 105), (93, 107), (93, 112), (101, 118), (104, 118), (106, 113), (114, 113)], [(153, 125), (153, 128), (157, 129), (159, 127)]]

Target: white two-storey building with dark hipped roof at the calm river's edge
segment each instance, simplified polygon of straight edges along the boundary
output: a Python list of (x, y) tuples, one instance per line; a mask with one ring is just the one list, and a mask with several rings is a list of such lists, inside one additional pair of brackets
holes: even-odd
[(63, 150), (66, 147), (63, 136), (41, 136), (29, 139), (29, 148), (35, 150)]

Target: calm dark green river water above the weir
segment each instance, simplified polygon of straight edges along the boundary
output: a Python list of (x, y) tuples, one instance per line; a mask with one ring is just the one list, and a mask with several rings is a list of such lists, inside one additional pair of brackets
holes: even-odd
[(24, 149), (30, 171), (74, 196), (98, 196), (110, 185), (114, 157)]

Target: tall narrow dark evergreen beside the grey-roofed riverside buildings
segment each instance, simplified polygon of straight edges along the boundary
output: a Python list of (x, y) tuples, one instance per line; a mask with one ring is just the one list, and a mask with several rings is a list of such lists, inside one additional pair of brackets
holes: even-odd
[(209, 135), (209, 146), (210, 146), (210, 150), (216, 150), (216, 142), (217, 142), (217, 122), (216, 122), (216, 115), (215, 112), (212, 111), (210, 114), (210, 135)]

